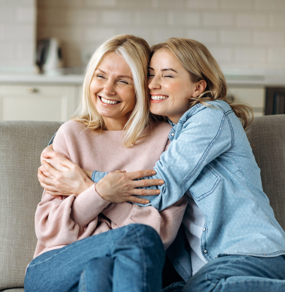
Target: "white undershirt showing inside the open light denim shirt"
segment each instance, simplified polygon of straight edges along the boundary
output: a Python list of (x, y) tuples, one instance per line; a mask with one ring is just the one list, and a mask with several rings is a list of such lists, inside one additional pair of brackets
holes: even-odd
[(193, 200), (191, 194), (188, 191), (186, 194), (188, 196), (188, 205), (182, 223), (185, 227), (185, 234), (190, 245), (192, 275), (194, 275), (207, 263), (200, 247), (200, 238), (203, 233), (205, 216)]

